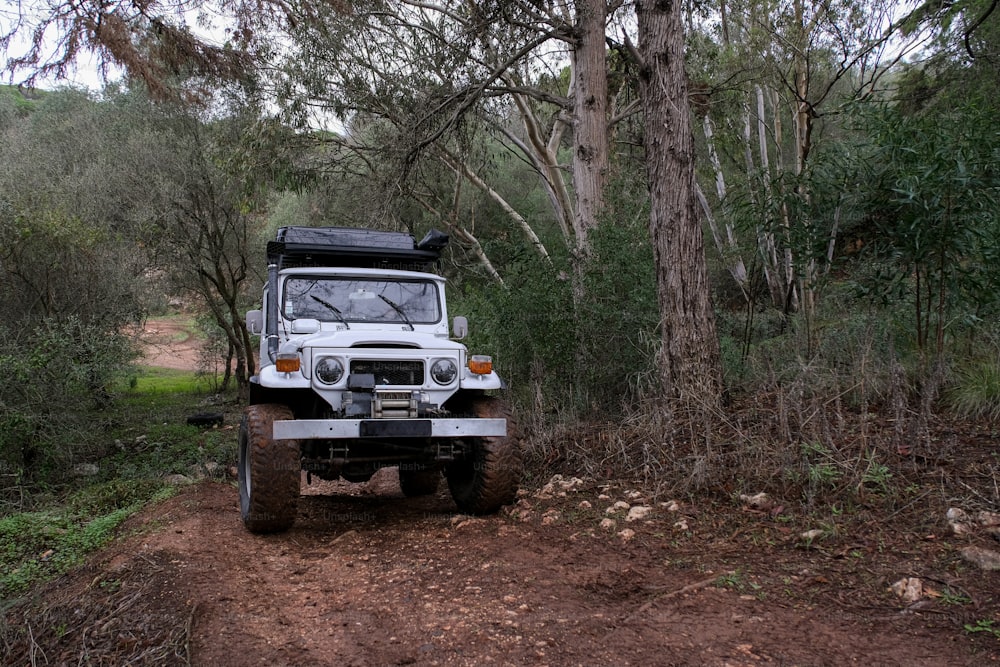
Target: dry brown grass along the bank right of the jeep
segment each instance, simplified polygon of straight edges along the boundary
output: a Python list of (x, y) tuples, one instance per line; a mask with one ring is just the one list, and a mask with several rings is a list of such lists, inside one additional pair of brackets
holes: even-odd
[(916, 391), (890, 368), (877, 395), (803, 366), (724, 409), (651, 401), (619, 421), (536, 425), (527, 460), (539, 477), (627, 479), (674, 496), (767, 491), (804, 507), (897, 507), (945, 470), (950, 479), (942, 476), (935, 494), (1000, 504), (992, 422), (935, 412), (940, 367)]

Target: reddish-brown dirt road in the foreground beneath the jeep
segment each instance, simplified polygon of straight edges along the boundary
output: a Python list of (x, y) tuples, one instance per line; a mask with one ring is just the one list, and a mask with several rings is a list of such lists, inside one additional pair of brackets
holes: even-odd
[[(629, 491), (584, 484), (470, 518), (446, 491), (404, 498), (385, 470), (304, 487), (294, 528), (255, 536), (235, 488), (205, 481), (134, 517), (135, 534), (19, 613), (49, 664), (1000, 661), (995, 636), (962, 630), (1000, 578), (963, 569), (941, 540), (806, 549), (746, 509), (655, 501), (601, 528), (614, 502), (648, 501)], [(886, 589), (912, 574), (972, 600), (901, 603)]]

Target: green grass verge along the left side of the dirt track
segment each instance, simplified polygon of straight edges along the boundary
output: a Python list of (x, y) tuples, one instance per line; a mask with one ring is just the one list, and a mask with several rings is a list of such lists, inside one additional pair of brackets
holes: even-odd
[[(7, 512), (0, 516), (0, 598), (21, 596), (83, 563), (122, 521), (173, 493), (166, 475), (205, 474), (210, 462), (220, 471), (235, 465), (234, 429), (186, 423), (195, 413), (239, 409), (234, 402), (206, 402), (212, 393), (196, 373), (140, 369), (113, 394), (107, 409), (81, 415), (87, 421), (72, 439), (53, 438), (72, 447), (53, 457), (60, 465), (49, 473), (36, 465), (19, 499), (5, 498), (0, 507)], [(234, 421), (227, 415), (227, 425)], [(96, 474), (75, 477), (79, 463), (96, 465)]]

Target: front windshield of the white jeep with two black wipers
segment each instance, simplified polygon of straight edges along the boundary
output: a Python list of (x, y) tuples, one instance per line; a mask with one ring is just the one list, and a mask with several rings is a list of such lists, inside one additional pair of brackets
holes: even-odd
[(437, 324), (441, 320), (432, 280), (295, 276), (285, 281), (286, 319), (324, 322)]

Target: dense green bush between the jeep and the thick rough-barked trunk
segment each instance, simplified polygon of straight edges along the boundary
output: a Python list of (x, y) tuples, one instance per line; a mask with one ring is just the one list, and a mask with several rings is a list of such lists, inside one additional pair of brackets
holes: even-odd
[(491, 256), (509, 258), (505, 285), (467, 283), (451, 302), (470, 319), (470, 350), (493, 354), (518, 402), (539, 415), (616, 414), (653, 374), (659, 306), (645, 219), (605, 221), (590, 242), (579, 297), (568, 260), (493, 243)]

